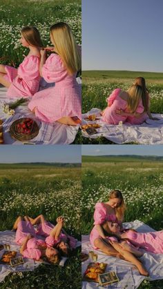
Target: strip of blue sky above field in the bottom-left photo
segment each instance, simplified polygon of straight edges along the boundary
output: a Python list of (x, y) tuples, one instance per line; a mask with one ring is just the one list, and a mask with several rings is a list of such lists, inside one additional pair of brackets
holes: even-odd
[(81, 146), (0, 146), (0, 163), (80, 163)]

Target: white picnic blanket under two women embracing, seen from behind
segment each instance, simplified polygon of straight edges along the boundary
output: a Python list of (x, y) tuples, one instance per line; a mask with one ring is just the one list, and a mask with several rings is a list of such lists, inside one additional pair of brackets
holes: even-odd
[[(99, 123), (101, 126), (97, 128), (97, 133), (88, 135), (82, 130), (83, 137), (90, 139), (97, 139), (97, 137), (105, 137), (114, 143), (128, 143), (136, 142), (141, 144), (161, 144), (163, 143), (163, 114), (152, 114), (153, 117), (160, 119), (153, 121), (146, 119), (146, 122), (140, 125), (131, 125), (124, 123), (121, 125), (111, 125), (102, 121), (100, 114), (102, 110), (99, 108), (92, 108), (89, 112), (82, 114), (82, 125), (86, 123)], [(86, 121), (85, 117), (90, 114), (96, 114), (97, 121)]]

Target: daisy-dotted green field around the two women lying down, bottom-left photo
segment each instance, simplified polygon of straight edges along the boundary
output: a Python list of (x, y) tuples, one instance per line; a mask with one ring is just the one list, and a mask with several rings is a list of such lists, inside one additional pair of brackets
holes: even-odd
[[(66, 219), (65, 229), (81, 239), (80, 166), (0, 165), (0, 230), (10, 230), (18, 215), (44, 214), (55, 223), (58, 215)], [(10, 274), (0, 288), (81, 288), (80, 248), (64, 268), (41, 264), (33, 272)]]

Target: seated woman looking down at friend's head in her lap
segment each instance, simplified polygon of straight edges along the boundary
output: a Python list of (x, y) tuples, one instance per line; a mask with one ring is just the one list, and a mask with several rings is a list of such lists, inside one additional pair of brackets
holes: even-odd
[[(114, 239), (108, 237), (108, 233), (115, 228), (122, 229), (122, 221), (124, 219), (125, 204), (122, 192), (113, 190), (108, 201), (105, 203), (96, 203), (94, 212), (94, 227), (90, 232), (90, 243), (95, 250), (99, 249), (108, 256), (118, 257), (133, 263), (140, 271), (141, 275), (148, 276), (148, 272), (142, 266), (142, 263), (137, 259), (143, 255), (137, 248), (126, 249), (113, 242)], [(109, 230), (108, 230), (109, 224)], [(113, 237), (113, 235), (112, 235)]]

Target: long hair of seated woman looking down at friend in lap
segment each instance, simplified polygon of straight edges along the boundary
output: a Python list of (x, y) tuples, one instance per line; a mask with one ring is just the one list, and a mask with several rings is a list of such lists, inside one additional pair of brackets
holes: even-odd
[(124, 203), (124, 198), (122, 192), (120, 190), (112, 190), (108, 196), (109, 199), (119, 199), (120, 203), (117, 208), (115, 208), (115, 215), (118, 221), (123, 221), (124, 219), (124, 211), (126, 210), (126, 206)]

